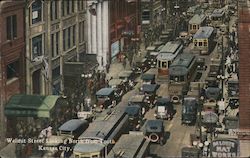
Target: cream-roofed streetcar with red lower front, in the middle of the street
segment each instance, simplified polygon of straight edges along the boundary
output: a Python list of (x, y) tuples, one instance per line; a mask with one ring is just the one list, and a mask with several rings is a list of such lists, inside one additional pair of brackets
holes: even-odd
[(165, 77), (168, 75), (168, 68), (173, 60), (182, 53), (183, 45), (180, 41), (168, 42), (157, 55), (157, 69), (158, 77)]

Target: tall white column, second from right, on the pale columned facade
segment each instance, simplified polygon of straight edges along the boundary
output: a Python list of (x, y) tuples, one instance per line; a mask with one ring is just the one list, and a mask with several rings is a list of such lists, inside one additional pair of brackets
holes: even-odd
[(97, 4), (97, 61), (99, 63), (98, 69), (101, 70), (103, 67), (102, 62), (102, 2)]

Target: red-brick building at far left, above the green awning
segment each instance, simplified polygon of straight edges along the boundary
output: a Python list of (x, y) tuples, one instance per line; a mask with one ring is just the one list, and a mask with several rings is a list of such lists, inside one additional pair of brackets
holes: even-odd
[(24, 1), (0, 2), (0, 148), (5, 142), (4, 105), (24, 92)]

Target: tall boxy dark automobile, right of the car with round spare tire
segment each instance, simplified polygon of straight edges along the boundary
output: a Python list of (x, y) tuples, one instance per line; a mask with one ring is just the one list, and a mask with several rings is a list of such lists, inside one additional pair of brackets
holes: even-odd
[(197, 118), (198, 102), (195, 97), (185, 97), (182, 104), (182, 124), (194, 124)]

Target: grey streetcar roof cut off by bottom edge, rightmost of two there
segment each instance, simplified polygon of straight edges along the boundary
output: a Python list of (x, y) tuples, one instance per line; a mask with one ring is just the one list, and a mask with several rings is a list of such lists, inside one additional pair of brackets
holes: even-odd
[(108, 158), (144, 158), (149, 155), (150, 141), (145, 138), (142, 132), (129, 132), (121, 136), (119, 141), (108, 154)]

